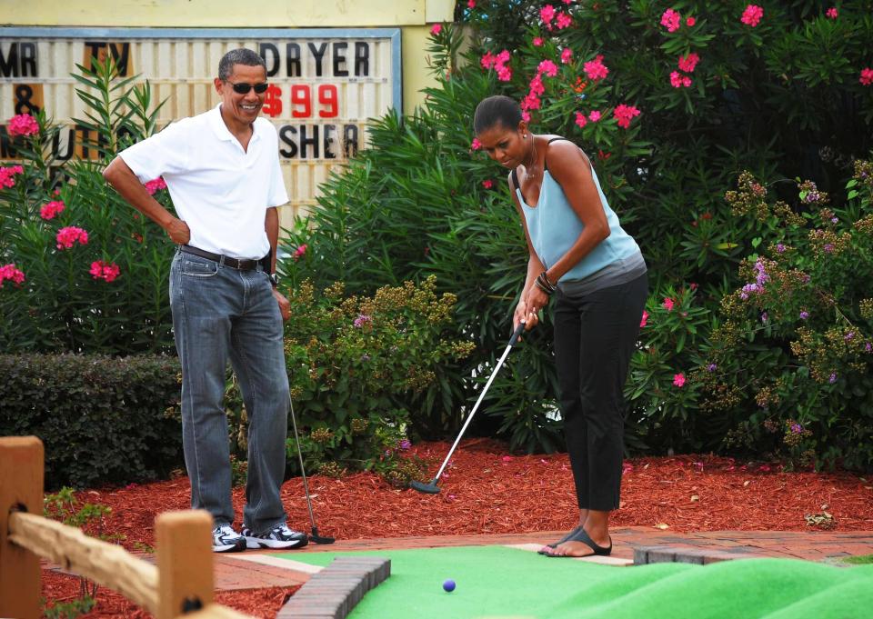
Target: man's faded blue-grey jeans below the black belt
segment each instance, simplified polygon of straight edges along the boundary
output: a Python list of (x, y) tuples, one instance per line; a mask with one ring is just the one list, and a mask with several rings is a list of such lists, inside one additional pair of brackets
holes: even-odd
[(170, 306), (182, 362), (182, 437), (191, 507), (216, 524), (234, 522), (230, 446), (223, 406), (228, 359), (248, 414), (248, 480), (243, 523), (256, 534), (286, 522), (288, 377), (282, 316), (266, 273), (239, 271), (176, 252)]

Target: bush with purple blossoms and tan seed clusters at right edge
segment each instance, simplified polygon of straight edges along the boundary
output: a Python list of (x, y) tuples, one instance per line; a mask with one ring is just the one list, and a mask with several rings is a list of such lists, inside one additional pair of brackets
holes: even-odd
[(797, 187), (786, 203), (744, 174), (726, 196), (759, 253), (722, 302), (700, 408), (730, 424), (728, 447), (873, 469), (873, 163), (855, 163), (843, 204)]

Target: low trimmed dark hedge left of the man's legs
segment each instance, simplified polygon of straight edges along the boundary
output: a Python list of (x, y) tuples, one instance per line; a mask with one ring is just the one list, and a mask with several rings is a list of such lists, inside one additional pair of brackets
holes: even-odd
[(45, 443), (45, 485), (163, 477), (182, 462), (180, 368), (160, 356), (0, 355), (0, 434)]

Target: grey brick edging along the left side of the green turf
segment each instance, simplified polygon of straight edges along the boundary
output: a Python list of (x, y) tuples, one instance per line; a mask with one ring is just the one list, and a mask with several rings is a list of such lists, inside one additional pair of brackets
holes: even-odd
[(300, 587), (276, 619), (346, 619), (364, 594), (391, 575), (391, 560), (338, 556)]

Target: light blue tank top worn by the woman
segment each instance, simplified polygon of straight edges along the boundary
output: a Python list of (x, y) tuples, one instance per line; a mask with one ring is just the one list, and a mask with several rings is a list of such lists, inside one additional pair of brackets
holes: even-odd
[[(600, 204), (603, 205), (603, 211), (607, 215), (609, 236), (582, 258), (577, 265), (561, 276), (560, 282), (562, 283), (585, 279), (589, 275), (633, 255), (642, 256), (637, 242), (622, 229), (618, 223), (618, 216), (609, 207), (607, 196), (600, 188), (600, 181), (597, 179), (594, 166), (591, 166), (591, 175), (597, 186)], [(582, 224), (570, 206), (561, 185), (558, 185), (557, 181), (549, 174), (548, 168), (543, 172), (543, 185), (539, 190), (539, 201), (536, 207), (528, 206), (525, 202), (515, 173), (513, 173), (513, 181), (516, 185), (518, 202), (521, 204), (527, 221), (530, 242), (534, 245), (534, 251), (537, 252), (540, 262), (548, 269), (567, 254), (567, 251), (582, 234), (585, 225)]]

